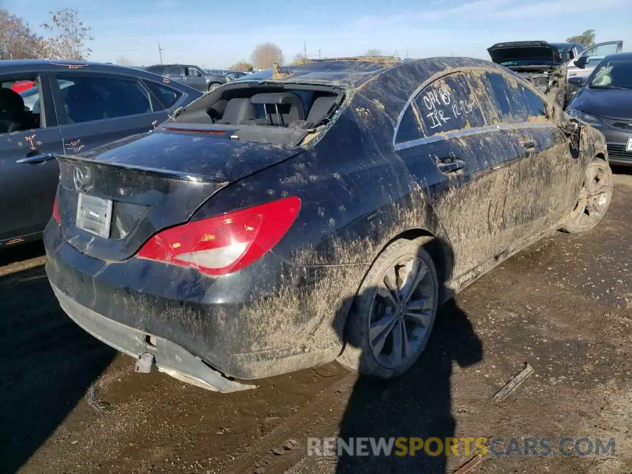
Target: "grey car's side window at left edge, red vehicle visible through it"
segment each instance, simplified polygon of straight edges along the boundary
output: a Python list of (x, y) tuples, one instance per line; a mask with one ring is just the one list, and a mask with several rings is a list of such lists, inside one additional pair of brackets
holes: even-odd
[(0, 88), (0, 133), (44, 126), (39, 82), (35, 77), (2, 80)]

